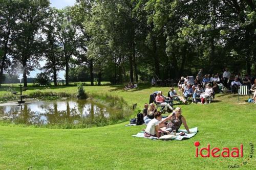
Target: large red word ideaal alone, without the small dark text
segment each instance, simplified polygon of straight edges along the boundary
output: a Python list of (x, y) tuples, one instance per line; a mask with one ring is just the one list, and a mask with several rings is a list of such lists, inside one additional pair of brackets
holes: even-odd
[[(219, 149), (217, 147), (210, 149), (210, 144), (207, 144), (207, 148), (201, 148), (198, 151), (198, 147), (200, 145), (199, 141), (196, 141), (194, 143), (195, 147), (196, 147), (196, 157), (198, 158), (198, 155), (200, 155), (203, 158), (206, 157), (210, 157), (210, 155), (214, 158), (218, 158), (218, 157), (223, 157), (223, 158), (228, 158), (228, 157), (233, 157), (233, 158), (238, 158), (238, 157), (243, 157), (243, 144), (240, 144), (240, 148), (232, 148), (231, 152), (229, 148), (222, 148)], [(206, 155), (204, 155), (202, 152), (206, 151)], [(199, 154), (198, 154), (199, 153)]]

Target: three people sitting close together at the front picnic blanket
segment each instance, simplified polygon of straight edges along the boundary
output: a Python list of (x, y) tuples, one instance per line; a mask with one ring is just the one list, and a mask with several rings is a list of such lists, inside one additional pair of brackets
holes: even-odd
[[(157, 111), (153, 103), (147, 109), (147, 115), (144, 120), (148, 120), (146, 129), (144, 130), (145, 137), (157, 137), (159, 138), (165, 134), (175, 134), (178, 132), (180, 126), (183, 124), (188, 133), (189, 129), (186, 123), (186, 119), (181, 114), (181, 108), (177, 107), (172, 113), (170, 113), (166, 118), (162, 118), (162, 113)], [(151, 117), (151, 118), (147, 118)]]

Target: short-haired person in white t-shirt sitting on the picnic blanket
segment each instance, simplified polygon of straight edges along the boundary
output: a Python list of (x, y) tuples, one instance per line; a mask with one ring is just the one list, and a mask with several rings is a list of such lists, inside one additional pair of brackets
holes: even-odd
[(161, 128), (159, 128), (159, 121), (162, 120), (162, 113), (157, 111), (154, 114), (154, 119), (152, 119), (146, 126), (145, 132), (144, 132), (144, 136), (145, 137), (157, 137), (159, 138), (161, 136), (161, 132), (167, 133), (169, 134), (168, 131), (162, 130)]

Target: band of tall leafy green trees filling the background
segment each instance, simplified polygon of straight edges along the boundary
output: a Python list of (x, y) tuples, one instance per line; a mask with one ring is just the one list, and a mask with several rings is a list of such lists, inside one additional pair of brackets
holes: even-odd
[[(0, 77), (14, 67), (41, 68), (57, 85), (69, 80), (123, 82), (209, 74), (256, 74), (253, 0), (1, 0)], [(71, 77), (71, 79), (69, 79)]]

